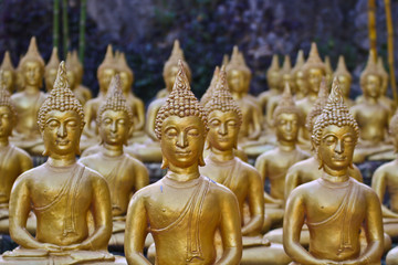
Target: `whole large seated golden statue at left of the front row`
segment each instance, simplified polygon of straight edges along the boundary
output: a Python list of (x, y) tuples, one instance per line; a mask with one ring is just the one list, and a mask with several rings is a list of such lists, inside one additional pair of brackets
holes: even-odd
[[(75, 160), (83, 119), (82, 105), (69, 88), (61, 62), (38, 117), (49, 159), (13, 184), (10, 234), (20, 247), (6, 252), (0, 264), (126, 264), (107, 252), (112, 212), (106, 180)], [(31, 210), (38, 219), (35, 237), (25, 230)]]

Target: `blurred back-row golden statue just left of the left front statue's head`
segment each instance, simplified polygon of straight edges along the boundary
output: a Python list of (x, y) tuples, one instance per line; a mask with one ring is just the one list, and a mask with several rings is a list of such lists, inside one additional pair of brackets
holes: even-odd
[(44, 75), (44, 61), (40, 56), (34, 36), (20, 64), (20, 71), (24, 77), (24, 88), (11, 96), (18, 113), (11, 141), (28, 152), (41, 153), (42, 149), (34, 150), (34, 148), (43, 142), (36, 120), (39, 108), (45, 99), (44, 93), (40, 91)]

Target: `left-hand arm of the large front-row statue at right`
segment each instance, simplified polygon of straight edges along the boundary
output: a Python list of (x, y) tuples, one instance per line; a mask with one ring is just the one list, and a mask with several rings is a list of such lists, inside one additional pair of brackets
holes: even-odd
[(298, 264), (320, 265), (337, 264), (321, 261), (311, 255), (301, 244), (300, 235), (304, 224), (305, 202), (301, 191), (293, 191), (287, 199), (283, 219), (283, 247), (286, 254)]

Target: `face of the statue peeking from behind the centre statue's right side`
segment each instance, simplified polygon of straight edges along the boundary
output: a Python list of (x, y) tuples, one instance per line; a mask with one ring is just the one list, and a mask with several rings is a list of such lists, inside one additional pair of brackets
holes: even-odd
[(221, 151), (237, 147), (239, 116), (234, 112), (212, 110), (209, 115), (208, 141), (210, 147)]

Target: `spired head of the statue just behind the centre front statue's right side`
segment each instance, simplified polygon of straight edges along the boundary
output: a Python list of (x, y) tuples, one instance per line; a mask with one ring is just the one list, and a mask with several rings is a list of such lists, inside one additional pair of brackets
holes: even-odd
[(207, 137), (209, 148), (221, 151), (238, 148), (242, 113), (229, 91), (224, 66), (219, 73), (217, 86), (205, 109), (209, 119), (209, 134)]

